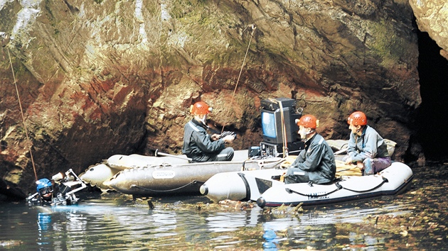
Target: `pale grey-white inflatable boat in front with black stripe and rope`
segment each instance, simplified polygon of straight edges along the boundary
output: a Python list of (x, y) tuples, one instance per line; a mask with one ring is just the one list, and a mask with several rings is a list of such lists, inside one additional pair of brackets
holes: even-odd
[[(401, 162), (375, 175), (361, 176), (355, 167), (336, 162), (338, 179), (331, 184), (284, 184), (278, 180), (286, 169), (266, 169), (215, 174), (201, 186), (201, 194), (213, 201), (257, 201), (265, 206), (313, 206), (373, 196), (397, 194), (412, 180), (412, 169)], [(353, 174), (341, 175), (343, 172)]]

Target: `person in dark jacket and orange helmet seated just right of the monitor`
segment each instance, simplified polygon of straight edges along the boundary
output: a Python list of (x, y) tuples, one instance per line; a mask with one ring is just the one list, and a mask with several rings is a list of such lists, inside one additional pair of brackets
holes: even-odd
[(284, 174), (284, 183), (332, 182), (336, 175), (334, 152), (326, 140), (316, 133), (319, 121), (312, 115), (304, 115), (297, 122), (305, 148)]

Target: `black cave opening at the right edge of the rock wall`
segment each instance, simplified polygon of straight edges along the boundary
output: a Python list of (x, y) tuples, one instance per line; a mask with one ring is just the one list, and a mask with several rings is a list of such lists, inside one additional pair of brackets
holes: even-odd
[(426, 32), (417, 31), (422, 104), (414, 114), (416, 137), (427, 161), (448, 160), (448, 60)]

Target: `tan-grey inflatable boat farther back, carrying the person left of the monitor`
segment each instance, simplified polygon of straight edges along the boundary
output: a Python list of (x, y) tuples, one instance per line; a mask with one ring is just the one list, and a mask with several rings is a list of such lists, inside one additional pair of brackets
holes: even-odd
[(214, 174), (241, 170), (273, 169), (284, 159), (250, 160), (247, 150), (237, 150), (232, 161), (189, 163), (184, 155), (161, 157), (113, 155), (80, 175), (102, 191), (115, 190), (136, 196), (200, 194), (199, 188)]

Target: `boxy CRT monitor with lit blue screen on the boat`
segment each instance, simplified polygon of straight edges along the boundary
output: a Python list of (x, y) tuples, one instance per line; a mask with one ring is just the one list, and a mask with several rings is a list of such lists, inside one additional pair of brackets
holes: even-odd
[[(299, 135), (297, 134), (299, 126), (296, 124), (296, 119), (299, 119), (300, 116), (301, 114), (296, 113), (293, 107), (283, 108), (287, 143), (299, 140)], [(261, 120), (263, 141), (272, 144), (283, 144), (282, 114), (280, 108), (277, 108), (275, 111), (262, 109)]]

